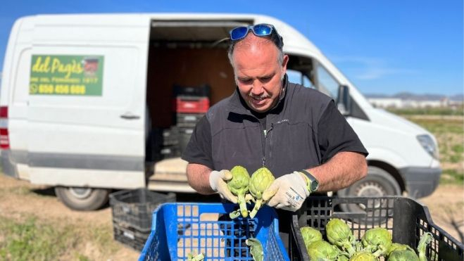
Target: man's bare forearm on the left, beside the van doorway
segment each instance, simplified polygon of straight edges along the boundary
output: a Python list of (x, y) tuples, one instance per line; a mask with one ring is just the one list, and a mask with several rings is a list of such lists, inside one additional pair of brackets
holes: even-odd
[(211, 169), (205, 165), (189, 163), (187, 165), (187, 180), (196, 192), (209, 195), (215, 193), (209, 184)]

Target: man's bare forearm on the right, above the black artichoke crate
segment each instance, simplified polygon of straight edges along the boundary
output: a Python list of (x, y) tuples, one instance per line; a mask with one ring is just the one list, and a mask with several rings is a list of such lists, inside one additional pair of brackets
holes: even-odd
[(318, 179), (318, 191), (338, 191), (363, 179), (368, 174), (368, 164), (362, 153), (341, 151), (327, 163), (307, 171)]

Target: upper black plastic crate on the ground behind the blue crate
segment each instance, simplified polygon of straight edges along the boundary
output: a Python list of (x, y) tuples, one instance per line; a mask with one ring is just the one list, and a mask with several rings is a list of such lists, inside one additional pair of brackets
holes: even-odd
[(151, 214), (161, 203), (175, 202), (175, 193), (157, 193), (148, 189), (123, 190), (110, 194), (113, 225), (151, 229)]

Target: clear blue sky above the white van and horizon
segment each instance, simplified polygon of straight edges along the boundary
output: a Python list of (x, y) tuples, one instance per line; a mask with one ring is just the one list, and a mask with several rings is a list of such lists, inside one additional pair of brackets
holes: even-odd
[(15, 19), (43, 13), (261, 13), (306, 35), (365, 94), (462, 94), (463, 0), (4, 1), (0, 66)]

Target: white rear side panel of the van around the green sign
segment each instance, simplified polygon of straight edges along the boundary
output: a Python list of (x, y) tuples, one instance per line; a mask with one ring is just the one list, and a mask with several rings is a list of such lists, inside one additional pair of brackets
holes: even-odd
[[(11, 153), (3, 158), (13, 165), (11, 173), (33, 183), (73, 185), (62, 179), (75, 175), (66, 169), (79, 167), (95, 175), (115, 172), (107, 185), (101, 182), (105, 177), (95, 177), (84, 182), (87, 186), (145, 185), (149, 26), (150, 19), (140, 15), (125, 20), (118, 15), (36, 15), (15, 23), (2, 79), (10, 88), (1, 93), (1, 105), (8, 106), (11, 144)], [(101, 95), (30, 94), (32, 56), (102, 57)], [(61, 173), (58, 182), (53, 175), (44, 178), (50, 166)], [(132, 171), (132, 182), (121, 170)]]

